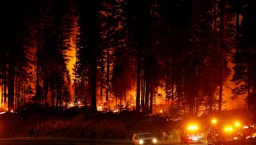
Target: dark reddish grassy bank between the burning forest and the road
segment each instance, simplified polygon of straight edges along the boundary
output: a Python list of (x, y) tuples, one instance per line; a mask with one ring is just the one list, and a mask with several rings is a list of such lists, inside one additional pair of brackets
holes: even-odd
[(131, 139), (135, 132), (151, 132), (161, 139), (164, 130), (173, 132), (173, 122), (160, 116), (148, 116), (133, 111), (120, 114), (67, 111), (41, 114), (5, 113), (1, 114), (0, 123), (0, 137), (29, 137), (32, 127), (38, 128), (39, 137)]

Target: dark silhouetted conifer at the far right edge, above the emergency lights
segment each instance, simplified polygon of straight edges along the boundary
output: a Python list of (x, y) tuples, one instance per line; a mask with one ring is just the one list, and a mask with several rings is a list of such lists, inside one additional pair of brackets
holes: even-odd
[(248, 111), (255, 116), (255, 1), (247, 1), (245, 4), (241, 29), (239, 31), (239, 45), (234, 55), (235, 74), (233, 81), (236, 88), (233, 92), (235, 95), (246, 94), (246, 103)]

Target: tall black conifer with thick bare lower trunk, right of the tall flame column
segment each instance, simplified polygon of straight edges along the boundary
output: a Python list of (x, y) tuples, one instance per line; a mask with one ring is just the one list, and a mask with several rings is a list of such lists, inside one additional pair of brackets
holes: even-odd
[(88, 85), (92, 89), (91, 107), (96, 108), (96, 87), (97, 87), (97, 59), (100, 52), (100, 21), (99, 1), (79, 1), (79, 50), (78, 69), (80, 77), (88, 78)]

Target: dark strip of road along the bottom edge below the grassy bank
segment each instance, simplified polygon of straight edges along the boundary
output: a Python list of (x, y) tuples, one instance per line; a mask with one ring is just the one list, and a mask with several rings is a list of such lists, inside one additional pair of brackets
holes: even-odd
[[(38, 138), (33, 137), (19, 137), (19, 138), (5, 138), (0, 139), (1, 145), (47, 145), (47, 144), (60, 144), (60, 145), (131, 145), (132, 142), (128, 140), (118, 139), (69, 139), (69, 138)], [(158, 142), (158, 144), (180, 145), (180, 142)], [(206, 143), (193, 144), (193, 145), (206, 145)]]

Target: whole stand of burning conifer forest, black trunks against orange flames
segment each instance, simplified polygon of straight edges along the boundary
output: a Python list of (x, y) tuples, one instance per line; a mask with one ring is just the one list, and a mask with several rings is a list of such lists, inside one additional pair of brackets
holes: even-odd
[(253, 0), (11, 0), (0, 7), (2, 110), (200, 116), (237, 100), (255, 114)]

